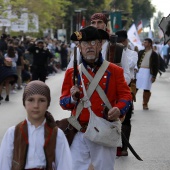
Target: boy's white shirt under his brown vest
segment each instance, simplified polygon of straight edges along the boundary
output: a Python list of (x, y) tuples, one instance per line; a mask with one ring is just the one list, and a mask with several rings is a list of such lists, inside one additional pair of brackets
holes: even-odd
[[(46, 166), (44, 154), (44, 124), (46, 120), (37, 128), (27, 120), (29, 147), (25, 169), (42, 168)], [(0, 145), (0, 169), (11, 170), (13, 142), (15, 126), (10, 127), (5, 133)], [(56, 149), (55, 149), (55, 170), (72, 170), (72, 158), (67, 139), (61, 129), (58, 128)], [(67, 163), (66, 163), (67, 161)]]

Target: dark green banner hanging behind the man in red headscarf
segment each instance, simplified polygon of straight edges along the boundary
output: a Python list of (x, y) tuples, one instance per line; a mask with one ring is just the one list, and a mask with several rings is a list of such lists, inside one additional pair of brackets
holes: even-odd
[(110, 14), (110, 22), (112, 32), (116, 32), (122, 29), (122, 13), (119, 11), (112, 12)]

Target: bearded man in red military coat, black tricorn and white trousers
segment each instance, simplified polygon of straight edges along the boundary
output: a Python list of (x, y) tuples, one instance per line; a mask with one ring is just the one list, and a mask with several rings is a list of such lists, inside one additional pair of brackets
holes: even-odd
[[(83, 67), (92, 76), (92, 79), (96, 78), (103, 63), (107, 62), (104, 61), (101, 54), (102, 39), (109, 39), (108, 33), (92, 26), (74, 32), (71, 36), (71, 40), (78, 41), (78, 47), (82, 57), (82, 64), (79, 68)], [(80, 71), (79, 69), (79, 73), (82, 73), (82, 76), (78, 74), (78, 85), (75, 86), (72, 79), (73, 71), (73, 68), (69, 68), (65, 73), (60, 105), (65, 110), (71, 110), (71, 114), (75, 115), (79, 103), (81, 104), (86, 96), (83, 86), (88, 90), (93, 80), (89, 81), (83, 70)], [(96, 88), (91, 94), (91, 97), (87, 95), (90, 98), (91, 110), (95, 115), (108, 121), (123, 117), (128, 111), (132, 100), (130, 89), (123, 76), (123, 69), (108, 62), (108, 67), (103, 72), (97, 87), (101, 87), (111, 104), (111, 108), (107, 114), (104, 112), (106, 102), (100, 97), (100, 93)], [(77, 93), (79, 95), (76, 95)], [(86, 101), (78, 117), (78, 122), (81, 126), (87, 127), (90, 114), (85, 103)], [(85, 129), (78, 131), (71, 144), (73, 169), (88, 169), (90, 163), (92, 163), (94, 169), (97, 170), (114, 170), (117, 148), (106, 147), (87, 139), (84, 136), (84, 131)]]

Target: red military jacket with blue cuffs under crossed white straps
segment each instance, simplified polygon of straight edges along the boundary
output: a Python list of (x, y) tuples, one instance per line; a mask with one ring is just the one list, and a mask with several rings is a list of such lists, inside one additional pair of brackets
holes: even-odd
[[(95, 72), (93, 72), (88, 67), (86, 68), (89, 74), (92, 77), (94, 77)], [(87, 90), (90, 82), (84, 74), (82, 75), (82, 78), (84, 80), (84, 85)], [(111, 105), (113, 107), (118, 107), (121, 112), (120, 117), (123, 117), (128, 111), (132, 100), (130, 89), (124, 79), (123, 69), (113, 63), (110, 63), (103, 77), (101, 78), (99, 85), (106, 93), (106, 96), (108, 97)], [(76, 106), (78, 102), (71, 103), (70, 89), (72, 86), (73, 86), (73, 68), (70, 68), (65, 73), (65, 78), (62, 86), (62, 95), (60, 97), (60, 106), (64, 110), (71, 110), (72, 115), (75, 115)], [(80, 81), (80, 75), (78, 75), (78, 87), (81, 91), (81, 95), (80, 95), (80, 99), (81, 99), (84, 96), (84, 94), (83, 94), (82, 84)], [(93, 112), (99, 117), (104, 117), (103, 116), (104, 102), (102, 101), (102, 99), (100, 98), (96, 90), (93, 92), (90, 101), (92, 104), (91, 108)], [(88, 122), (89, 116), (90, 114), (88, 109), (83, 108), (79, 116), (79, 122), (82, 123)]]

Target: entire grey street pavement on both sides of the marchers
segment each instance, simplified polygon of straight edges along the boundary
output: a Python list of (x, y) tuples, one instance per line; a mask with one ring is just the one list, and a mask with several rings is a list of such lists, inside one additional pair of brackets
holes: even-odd
[[(49, 111), (56, 120), (70, 115), (69, 111), (63, 111), (59, 106), (63, 79), (64, 72), (61, 72), (46, 81), (52, 96)], [(128, 157), (117, 157), (115, 170), (170, 170), (170, 69), (162, 76), (158, 74), (151, 91), (148, 111), (142, 109), (143, 92), (138, 91), (131, 119), (130, 143), (143, 161), (138, 161), (129, 151)], [(8, 127), (26, 116), (22, 93), (23, 89), (17, 91), (17, 94), (11, 94), (10, 101), (2, 101), (0, 105), (0, 142)]]

